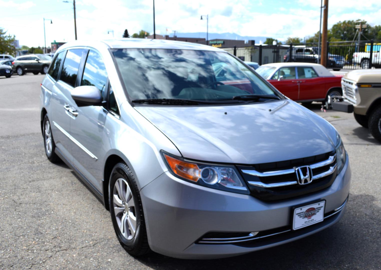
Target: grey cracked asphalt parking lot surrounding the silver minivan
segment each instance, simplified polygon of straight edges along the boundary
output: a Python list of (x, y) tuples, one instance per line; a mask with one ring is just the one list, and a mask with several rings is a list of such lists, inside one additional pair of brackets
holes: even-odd
[(381, 268), (381, 144), (352, 114), (309, 105), (336, 127), (350, 158), (349, 203), (334, 226), (227, 259), (134, 258), (119, 245), (109, 212), (91, 191), (66, 165), (46, 159), (38, 108), (42, 79), (0, 77), (0, 269)]

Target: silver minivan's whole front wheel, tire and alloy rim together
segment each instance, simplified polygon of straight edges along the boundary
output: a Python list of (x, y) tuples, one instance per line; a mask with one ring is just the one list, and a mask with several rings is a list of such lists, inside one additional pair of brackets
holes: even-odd
[(110, 176), (109, 205), (112, 224), (120, 245), (133, 256), (150, 251), (138, 186), (130, 168), (120, 162)]

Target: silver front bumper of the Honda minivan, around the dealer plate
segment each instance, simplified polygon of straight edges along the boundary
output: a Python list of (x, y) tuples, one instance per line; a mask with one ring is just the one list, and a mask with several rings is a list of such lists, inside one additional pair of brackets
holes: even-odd
[(343, 216), (345, 206), (323, 222), (244, 244), (196, 243), (208, 232), (261, 232), (291, 227), (295, 205), (326, 200), (325, 215), (333, 213), (349, 194), (351, 169), (346, 164), (333, 184), (323, 191), (280, 202), (263, 202), (250, 195), (198, 186), (169, 172), (141, 189), (150, 248), (184, 259), (213, 259), (270, 248), (319, 232)]

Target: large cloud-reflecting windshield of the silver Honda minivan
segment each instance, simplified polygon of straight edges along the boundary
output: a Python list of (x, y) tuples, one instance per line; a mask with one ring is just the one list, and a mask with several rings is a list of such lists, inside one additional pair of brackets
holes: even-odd
[(112, 51), (131, 100), (227, 100), (273, 95), (249, 68), (226, 52), (179, 49)]

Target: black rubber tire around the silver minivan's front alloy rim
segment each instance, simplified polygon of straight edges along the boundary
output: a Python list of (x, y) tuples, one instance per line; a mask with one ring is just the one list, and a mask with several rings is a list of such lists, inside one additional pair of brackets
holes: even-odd
[[(118, 179), (124, 179), (130, 187), (133, 202), (134, 202), (134, 214), (136, 217), (136, 230), (134, 232), (133, 238), (128, 240), (121, 232), (118, 226), (117, 217), (115, 215), (114, 206), (114, 188), (115, 183)], [(120, 180), (119, 180), (120, 181)], [(131, 173), (130, 168), (122, 162), (119, 162), (114, 166), (110, 175), (110, 194), (109, 194), (109, 205), (110, 205), (110, 214), (112, 225), (114, 226), (115, 234), (119, 240), (120, 245), (132, 256), (142, 256), (150, 252), (146, 223), (144, 221), (144, 213), (141, 202), (141, 197), (139, 193), (138, 186), (134, 180), (134, 176)], [(123, 211), (123, 213), (125, 213)], [(128, 228), (129, 229), (129, 228)], [(131, 232), (131, 230), (130, 230)]]

